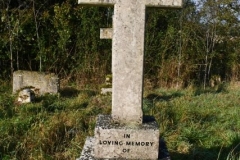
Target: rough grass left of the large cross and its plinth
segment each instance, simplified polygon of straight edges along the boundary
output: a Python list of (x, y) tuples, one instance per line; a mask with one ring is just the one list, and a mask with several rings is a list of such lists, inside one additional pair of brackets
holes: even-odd
[(0, 159), (76, 159), (97, 114), (109, 114), (110, 96), (66, 88), (19, 105), (7, 83), (0, 87)]

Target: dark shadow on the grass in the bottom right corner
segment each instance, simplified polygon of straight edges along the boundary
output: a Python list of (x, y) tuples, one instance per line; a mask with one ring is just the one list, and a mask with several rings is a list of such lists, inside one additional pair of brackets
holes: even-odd
[(229, 147), (194, 147), (189, 153), (170, 152), (169, 155), (171, 160), (239, 160), (240, 137), (233, 139)]

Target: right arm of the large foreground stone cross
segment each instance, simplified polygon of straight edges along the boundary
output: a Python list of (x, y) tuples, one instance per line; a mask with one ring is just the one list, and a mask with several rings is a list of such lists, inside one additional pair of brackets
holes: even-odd
[(182, 7), (182, 0), (145, 0), (148, 7)]

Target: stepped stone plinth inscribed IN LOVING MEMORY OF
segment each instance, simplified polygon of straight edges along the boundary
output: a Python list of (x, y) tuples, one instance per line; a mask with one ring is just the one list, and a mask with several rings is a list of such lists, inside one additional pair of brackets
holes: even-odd
[(157, 160), (159, 128), (151, 117), (139, 126), (115, 124), (109, 115), (99, 115), (95, 137), (88, 138), (79, 160), (141, 159)]

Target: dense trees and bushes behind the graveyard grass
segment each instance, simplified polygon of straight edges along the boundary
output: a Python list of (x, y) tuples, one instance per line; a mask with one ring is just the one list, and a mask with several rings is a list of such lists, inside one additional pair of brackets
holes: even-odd
[[(183, 9), (148, 8), (145, 77), (154, 87), (237, 81), (239, 0), (184, 0)], [(77, 0), (0, 0), (0, 78), (14, 70), (54, 72), (66, 83), (99, 84), (111, 74), (113, 8)]]

